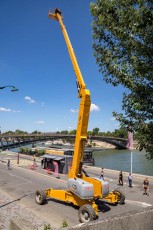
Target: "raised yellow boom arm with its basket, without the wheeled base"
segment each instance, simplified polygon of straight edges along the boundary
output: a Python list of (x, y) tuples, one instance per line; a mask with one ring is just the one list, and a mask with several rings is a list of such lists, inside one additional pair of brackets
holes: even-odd
[(57, 20), (60, 23), (61, 30), (64, 35), (64, 39), (68, 48), (68, 52), (72, 61), (74, 72), (77, 78), (78, 85), (78, 97), (80, 100), (80, 109), (78, 114), (78, 124), (77, 132), (75, 138), (75, 147), (74, 147), (74, 156), (72, 162), (72, 168), (69, 171), (69, 178), (82, 177), (82, 162), (84, 158), (84, 149), (85, 143), (87, 141), (87, 129), (88, 129), (88, 120), (90, 113), (90, 91), (86, 89), (75, 53), (73, 51), (70, 39), (68, 37), (66, 28), (63, 24), (61, 12), (59, 9), (56, 9), (54, 13), (49, 12), (48, 17), (54, 20)]

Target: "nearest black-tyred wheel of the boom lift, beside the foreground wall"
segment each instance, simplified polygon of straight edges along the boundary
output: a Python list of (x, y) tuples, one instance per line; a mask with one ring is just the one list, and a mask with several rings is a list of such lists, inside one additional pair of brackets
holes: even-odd
[(96, 213), (90, 204), (82, 205), (78, 212), (81, 223), (88, 223), (96, 219)]

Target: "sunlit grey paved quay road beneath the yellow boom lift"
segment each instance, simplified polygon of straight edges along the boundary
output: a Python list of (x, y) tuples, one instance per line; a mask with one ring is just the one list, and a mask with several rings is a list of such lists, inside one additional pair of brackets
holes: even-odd
[[(7, 169), (6, 161), (11, 159), (11, 170)], [(37, 189), (67, 188), (67, 176), (60, 175), (57, 179), (54, 175), (48, 175), (44, 169), (41, 169), (39, 162), (36, 170), (31, 170), (30, 165), (32, 159), (20, 156), (20, 164), (16, 164), (16, 155), (13, 153), (1, 153), (0, 158), (0, 191), (6, 197), (6, 202), (1, 202), (1, 211), (10, 210), (10, 218), (13, 217), (15, 205), (20, 206), (20, 212), (16, 210), (16, 215), (31, 218), (36, 222), (38, 229), (43, 229), (44, 223), (50, 223), (53, 228), (58, 228), (62, 225), (63, 220), (66, 220), (69, 226), (80, 224), (78, 219), (78, 210), (70, 205), (65, 205), (61, 202), (48, 200), (45, 205), (35, 203), (35, 191)], [(90, 176), (100, 175), (100, 168), (85, 167), (85, 170)], [(109, 181), (110, 189), (117, 188), (117, 171), (104, 169), (105, 180)], [(111, 206), (101, 203), (99, 206), (99, 217), (96, 221), (105, 220), (116, 215), (138, 210), (153, 205), (153, 177), (149, 177), (150, 195), (143, 195), (142, 182), (144, 176), (133, 175), (133, 187), (129, 188), (127, 183), (127, 173), (124, 173), (124, 186), (121, 188), (126, 195), (124, 205)], [(7, 201), (9, 197), (9, 202)], [(0, 197), (1, 200), (1, 197)], [(5, 210), (4, 210), (5, 209)], [(28, 212), (28, 214), (27, 214)], [(7, 223), (8, 224), (8, 223)], [(5, 223), (4, 223), (5, 225)], [(4, 228), (5, 229), (5, 228)], [(6, 228), (7, 229), (7, 228)]]

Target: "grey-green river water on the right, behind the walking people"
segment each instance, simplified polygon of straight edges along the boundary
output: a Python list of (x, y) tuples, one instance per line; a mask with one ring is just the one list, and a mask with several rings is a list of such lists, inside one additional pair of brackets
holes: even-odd
[[(153, 176), (153, 160), (147, 160), (144, 151), (132, 150), (132, 172)], [(114, 170), (131, 171), (131, 151), (102, 150), (93, 152), (95, 166)]]

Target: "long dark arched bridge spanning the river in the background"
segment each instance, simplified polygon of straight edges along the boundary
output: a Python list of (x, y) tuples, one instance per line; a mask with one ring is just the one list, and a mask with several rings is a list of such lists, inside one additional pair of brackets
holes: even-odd
[[(57, 134), (57, 133), (41, 133), (41, 134), (0, 134), (0, 149), (18, 148), (23, 145), (42, 141), (54, 141), (57, 139), (73, 140), (75, 135)], [(91, 136), (89, 135), (88, 141), (94, 140), (106, 142), (114, 145), (118, 149), (126, 149), (127, 139), (117, 137), (104, 137), (104, 136)]]

